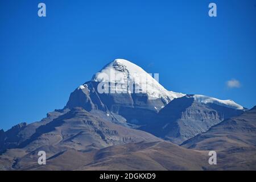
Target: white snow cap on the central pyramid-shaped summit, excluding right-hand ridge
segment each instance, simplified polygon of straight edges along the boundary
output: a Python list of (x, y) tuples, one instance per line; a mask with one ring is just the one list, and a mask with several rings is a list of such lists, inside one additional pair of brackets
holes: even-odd
[[(138, 65), (125, 59), (115, 59), (92, 77), (92, 81), (112, 83), (110, 89), (113, 89), (114, 83), (117, 92), (128, 88), (129, 93), (147, 93), (150, 99), (161, 98), (166, 104), (174, 98), (184, 96), (182, 93), (169, 92), (157, 80), (158, 74), (148, 74)], [(134, 88), (130, 89), (132, 86), (136, 91)]]

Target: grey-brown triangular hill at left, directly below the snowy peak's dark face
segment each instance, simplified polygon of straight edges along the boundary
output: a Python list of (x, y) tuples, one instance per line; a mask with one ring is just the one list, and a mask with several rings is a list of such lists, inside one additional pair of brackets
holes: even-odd
[(19, 160), (34, 155), (32, 160), (37, 163), (36, 155), (40, 150), (46, 151), (49, 156), (55, 156), (66, 150), (86, 152), (145, 140), (161, 141), (144, 131), (116, 125), (94, 117), (81, 107), (74, 107), (51, 122), (40, 125), (34, 134), (16, 144), (16, 147), (3, 151), (0, 164), (2, 168), (5, 166), (8, 169), (21, 169)]

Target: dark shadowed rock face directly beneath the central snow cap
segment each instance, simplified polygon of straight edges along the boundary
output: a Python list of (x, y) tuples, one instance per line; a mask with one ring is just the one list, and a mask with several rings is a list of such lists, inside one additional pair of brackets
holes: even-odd
[[(109, 113), (109, 117), (117, 114), (127, 123), (142, 125), (167, 104), (160, 98), (150, 100), (145, 93), (98, 93), (98, 84), (99, 82), (89, 81), (85, 83), (84, 88), (76, 89), (71, 93), (65, 108), (82, 107), (87, 111), (101, 110)], [(112, 120), (118, 122), (116, 118)]]

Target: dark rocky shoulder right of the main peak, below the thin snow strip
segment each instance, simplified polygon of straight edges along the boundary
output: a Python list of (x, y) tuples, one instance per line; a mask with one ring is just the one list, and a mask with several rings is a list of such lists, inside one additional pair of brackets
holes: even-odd
[(176, 98), (160, 110), (154, 122), (141, 130), (180, 144), (207, 131), (223, 119), (239, 115), (243, 110), (197, 102), (193, 95)]

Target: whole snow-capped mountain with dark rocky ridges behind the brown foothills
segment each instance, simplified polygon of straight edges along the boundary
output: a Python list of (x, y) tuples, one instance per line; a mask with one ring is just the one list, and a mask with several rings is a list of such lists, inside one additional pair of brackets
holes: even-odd
[(0, 131), (0, 151), (18, 147), (34, 137), (40, 126), (76, 107), (178, 144), (245, 110), (231, 100), (168, 91), (138, 65), (116, 59), (75, 89), (64, 109), (48, 113), (40, 122)]

